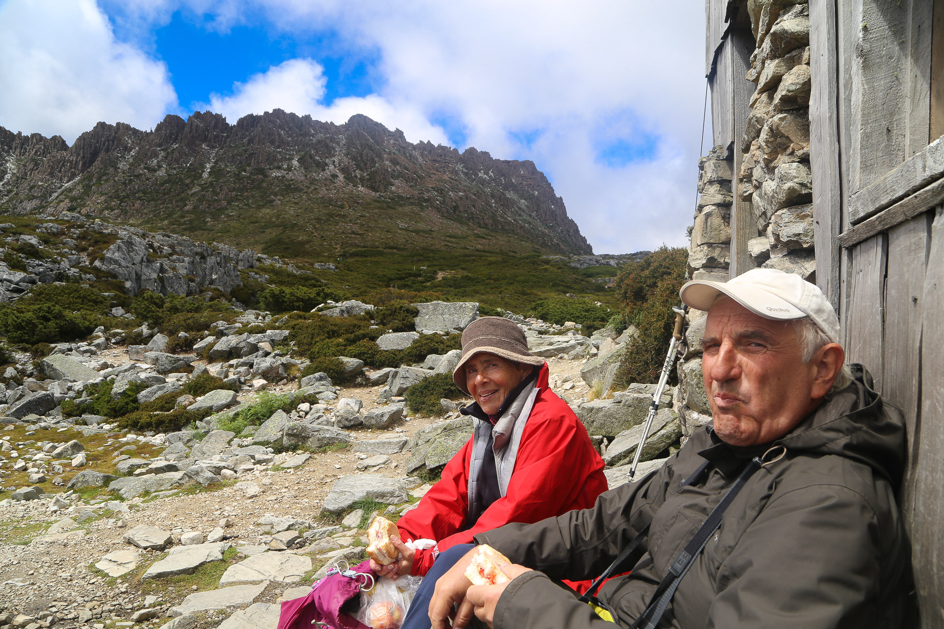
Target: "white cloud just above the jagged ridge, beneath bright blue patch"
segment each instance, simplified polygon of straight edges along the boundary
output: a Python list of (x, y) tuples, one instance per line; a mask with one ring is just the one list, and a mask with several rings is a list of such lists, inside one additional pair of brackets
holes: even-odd
[(338, 98), (325, 106), (322, 103), (325, 86), (324, 69), (319, 63), (312, 59), (290, 59), (264, 73), (253, 74), (244, 83), (235, 83), (231, 95), (211, 94), (206, 107), (222, 113), (229, 122), (275, 108), (298, 115), (311, 114), (315, 120), (335, 124), (344, 124), (354, 114), (362, 113), (391, 129), (401, 129), (409, 141), (447, 142), (442, 128), (430, 124), (409, 103), (392, 103), (369, 94)]

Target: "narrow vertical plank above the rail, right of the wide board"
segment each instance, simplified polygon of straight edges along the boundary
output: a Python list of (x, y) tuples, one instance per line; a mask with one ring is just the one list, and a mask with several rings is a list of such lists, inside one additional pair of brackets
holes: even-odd
[(931, 55), (934, 5), (928, 0), (908, 0), (908, 98), (905, 113), (904, 157), (928, 145), (931, 125)]

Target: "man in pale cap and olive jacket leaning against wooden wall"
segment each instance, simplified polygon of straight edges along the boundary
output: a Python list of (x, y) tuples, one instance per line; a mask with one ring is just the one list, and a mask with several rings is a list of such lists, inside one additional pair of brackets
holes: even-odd
[[(496, 628), (612, 627), (551, 579), (593, 578), (647, 531), (616, 572), (632, 571), (598, 592), (623, 626), (640, 617), (686, 629), (902, 626), (913, 610), (894, 496), (902, 416), (861, 366), (844, 367), (833, 308), (816, 286), (770, 269), (688, 282), (681, 295), (708, 310), (702, 368), (714, 426), (590, 509), (478, 534), (514, 562), (503, 567), (512, 580), (470, 588), (464, 557), (437, 585), (433, 627), (447, 627), (453, 604), (458, 627), (473, 614)], [(720, 525), (683, 556), (732, 489)], [(685, 561), (668, 604), (649, 606)]]

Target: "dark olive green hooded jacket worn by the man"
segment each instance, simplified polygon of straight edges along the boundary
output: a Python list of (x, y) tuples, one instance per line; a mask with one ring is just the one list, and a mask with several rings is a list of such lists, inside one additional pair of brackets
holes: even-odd
[[(784, 455), (753, 474), (683, 577), (660, 626), (900, 627), (915, 613), (908, 541), (895, 500), (902, 479), (901, 412), (855, 381), (792, 432), (737, 448), (706, 426), (649, 477), (596, 505), (476, 536), (535, 571), (504, 590), (495, 629), (613, 627), (553, 580), (592, 579), (649, 525), (641, 551), (598, 597), (629, 626), (668, 566), (752, 456)], [(771, 453), (776, 455), (783, 450)], [(708, 459), (692, 485), (684, 478)]]

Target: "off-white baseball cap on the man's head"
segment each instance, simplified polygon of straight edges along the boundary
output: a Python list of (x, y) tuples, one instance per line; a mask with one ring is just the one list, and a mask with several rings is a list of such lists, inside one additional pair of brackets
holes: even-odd
[(707, 310), (720, 293), (767, 319), (809, 317), (830, 340), (839, 342), (839, 318), (833, 305), (816, 284), (810, 284), (796, 273), (751, 269), (727, 282), (697, 279), (687, 282), (679, 296), (686, 306)]

